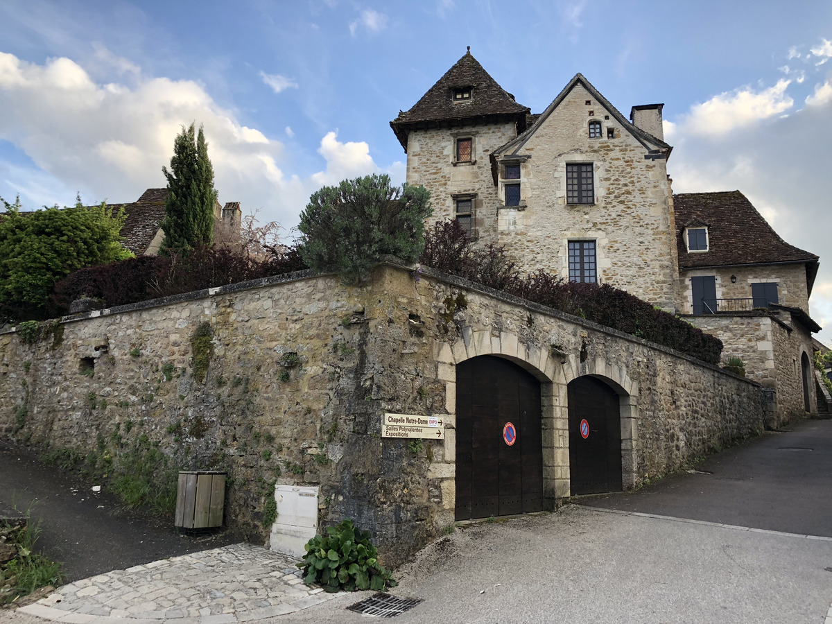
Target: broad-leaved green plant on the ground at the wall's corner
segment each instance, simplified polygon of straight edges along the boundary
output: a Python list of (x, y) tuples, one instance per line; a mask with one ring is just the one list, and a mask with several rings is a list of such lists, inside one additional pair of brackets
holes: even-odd
[(316, 535), (305, 548), (298, 567), (307, 585), (318, 582), (327, 592), (379, 592), (398, 584), (379, 564), (379, 550), (369, 541), (369, 531), (355, 528), (349, 518), (337, 527), (327, 527), (326, 535)]

